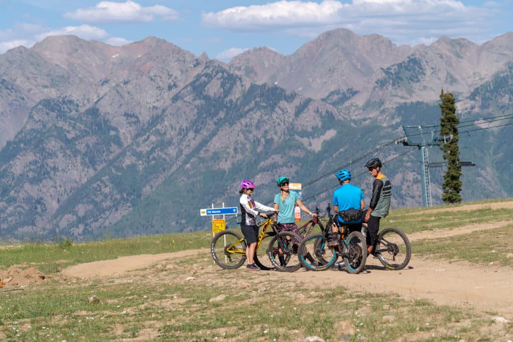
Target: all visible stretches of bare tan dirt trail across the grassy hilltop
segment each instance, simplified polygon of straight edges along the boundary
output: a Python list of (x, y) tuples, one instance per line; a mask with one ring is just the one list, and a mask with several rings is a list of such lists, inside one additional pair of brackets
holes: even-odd
[[(483, 204), (458, 207), (450, 210), (474, 210), (478, 208), (512, 208), (513, 202)], [(432, 210), (433, 213), (441, 210)], [(450, 231), (426, 231), (409, 234), (411, 241), (441, 236), (467, 234), (476, 230), (501, 227), (512, 221), (502, 221), (481, 225), (469, 225)], [(415, 252), (415, 251), (414, 251)], [(126, 275), (135, 270), (150, 267), (160, 261), (183, 256), (201, 254), (209, 257), (209, 250), (189, 250), (157, 255), (134, 255), (114, 260), (95, 261), (71, 266), (63, 270), (65, 278), (90, 278)], [(243, 268), (236, 272), (246, 272)], [(352, 275), (344, 271), (328, 270), (293, 273), (273, 272), (277, 279), (286, 277), (306, 281), (309, 284), (324, 286), (345, 286), (353, 291), (390, 292), (405, 299), (431, 299), (440, 305), (471, 306), (480, 311), (497, 312), (513, 321), (513, 270), (494, 265), (480, 266), (464, 262), (448, 262), (438, 259), (424, 259), (413, 253), (409, 265), (401, 271), (387, 271), (379, 260), (369, 257), (366, 269)]]

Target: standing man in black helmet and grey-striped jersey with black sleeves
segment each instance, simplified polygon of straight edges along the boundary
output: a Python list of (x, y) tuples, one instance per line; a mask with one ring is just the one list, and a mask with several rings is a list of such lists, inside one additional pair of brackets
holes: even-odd
[(374, 177), (369, 209), (362, 214), (363, 222), (367, 222), (367, 252), (369, 254), (372, 253), (376, 244), (380, 219), (388, 215), (392, 197), (392, 185), (387, 176), (381, 173), (381, 166), (381, 160), (378, 158), (370, 159), (364, 166), (369, 169), (370, 175)]

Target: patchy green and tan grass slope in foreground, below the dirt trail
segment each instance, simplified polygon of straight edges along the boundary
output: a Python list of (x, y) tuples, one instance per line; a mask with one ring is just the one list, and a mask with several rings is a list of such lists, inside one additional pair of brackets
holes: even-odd
[[(0, 338), (442, 341), (496, 340), (507, 332), (483, 330), (488, 317), (430, 300), (312, 287), (273, 271), (223, 271), (208, 252), (173, 266), (0, 292)], [(92, 295), (100, 301), (89, 303)]]

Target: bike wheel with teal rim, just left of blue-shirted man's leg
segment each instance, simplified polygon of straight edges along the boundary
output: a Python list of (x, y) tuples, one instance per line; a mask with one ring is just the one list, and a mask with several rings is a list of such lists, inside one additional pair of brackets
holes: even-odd
[(299, 245), (299, 261), (307, 270), (323, 271), (337, 260), (338, 254), (328, 248), (328, 241), (323, 234), (313, 234)]

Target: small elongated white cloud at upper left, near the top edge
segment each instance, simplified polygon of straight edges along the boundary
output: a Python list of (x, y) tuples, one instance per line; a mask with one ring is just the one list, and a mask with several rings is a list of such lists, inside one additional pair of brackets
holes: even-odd
[(83, 21), (86, 23), (113, 23), (113, 22), (153, 22), (157, 19), (176, 21), (179, 14), (175, 10), (154, 5), (143, 7), (131, 0), (124, 3), (102, 1), (95, 7), (79, 8), (67, 12), (64, 17)]

